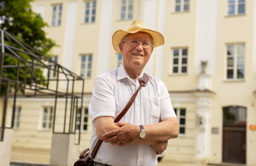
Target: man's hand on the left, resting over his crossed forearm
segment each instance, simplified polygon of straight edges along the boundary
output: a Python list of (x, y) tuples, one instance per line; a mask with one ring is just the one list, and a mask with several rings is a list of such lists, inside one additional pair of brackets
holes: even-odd
[(132, 143), (136, 139), (139, 139), (140, 127), (128, 122), (118, 122), (115, 124), (120, 127), (110, 132), (104, 133), (104, 137), (109, 137), (104, 140), (104, 143), (117, 144), (119, 146), (125, 146), (128, 143)]

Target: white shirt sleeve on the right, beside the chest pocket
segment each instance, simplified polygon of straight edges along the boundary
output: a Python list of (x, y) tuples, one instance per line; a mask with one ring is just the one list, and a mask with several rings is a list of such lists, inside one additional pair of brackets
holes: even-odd
[(170, 95), (168, 93), (167, 87), (164, 84), (161, 85), (160, 112), (161, 121), (167, 117), (176, 117)]

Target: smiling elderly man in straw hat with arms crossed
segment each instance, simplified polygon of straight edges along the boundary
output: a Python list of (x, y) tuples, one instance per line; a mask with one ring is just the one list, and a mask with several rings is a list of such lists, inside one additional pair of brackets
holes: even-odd
[[(118, 30), (113, 47), (123, 54), (123, 63), (95, 80), (89, 115), (93, 121), (91, 149), (104, 140), (94, 165), (157, 165), (157, 154), (167, 148), (168, 139), (178, 137), (179, 124), (163, 81), (149, 75), (147, 86), (138, 92), (120, 122), (114, 119), (140, 86), (139, 79), (152, 51), (164, 43), (163, 35), (136, 20)], [(89, 154), (91, 155), (91, 154)]]

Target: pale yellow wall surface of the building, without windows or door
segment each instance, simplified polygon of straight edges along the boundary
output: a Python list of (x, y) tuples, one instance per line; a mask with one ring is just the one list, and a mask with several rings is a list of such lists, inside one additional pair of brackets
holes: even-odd
[[(54, 39), (59, 47), (52, 49), (58, 56), (58, 64), (64, 65), (79, 75), (82, 54), (93, 54), (92, 76), (85, 78), (84, 107), (88, 107), (93, 83), (97, 75), (105, 70), (116, 68), (117, 52), (112, 49), (111, 37), (117, 29), (127, 29), (133, 20), (141, 19), (151, 29), (164, 34), (165, 44), (154, 49), (151, 61), (145, 69), (147, 73), (159, 76), (166, 84), (174, 108), (186, 109), (185, 134), (168, 141), (165, 154), (167, 160), (210, 163), (222, 162), (222, 129), (224, 106), (244, 106), (247, 108), (247, 146), (248, 164), (256, 164), (253, 157), (256, 149), (256, 132), (248, 129), (255, 124), (256, 100), (255, 86), (255, 11), (252, 0), (246, 1), (246, 14), (227, 16), (227, 1), (190, 1), (189, 12), (175, 13), (174, 0), (135, 0), (133, 18), (120, 20), (120, 1), (97, 1), (95, 23), (83, 23), (83, 0), (36, 0), (31, 3), (33, 11), (44, 16), (51, 24), (52, 5), (62, 4), (61, 26), (45, 28), (48, 37)], [(211, 6), (211, 8), (209, 8)], [(72, 16), (76, 16), (73, 20)], [(75, 23), (75, 24), (72, 24)], [(69, 34), (73, 34), (70, 36)], [(253, 35), (254, 34), (254, 35)], [(244, 80), (227, 80), (227, 44), (245, 44)], [(188, 49), (188, 72), (173, 75), (173, 49)], [(67, 54), (68, 53), (68, 54)], [(205, 93), (205, 107), (199, 108), (201, 61), (207, 60), (205, 68), (208, 85)], [(56, 85), (52, 84), (52, 87)], [(81, 83), (75, 91), (81, 91)], [(61, 85), (61, 91), (65, 85)], [(13, 132), (13, 148), (51, 149), (51, 131), (41, 131), (42, 107), (53, 106), (53, 99), (19, 99), (22, 106), (21, 125)], [(0, 101), (1, 102), (1, 101)], [(8, 110), (12, 108), (9, 102)], [(56, 127), (61, 130), (64, 101), (58, 102)], [(198, 133), (198, 116), (205, 113), (205, 131)], [(0, 114), (1, 116), (1, 114)], [(8, 118), (11, 113), (8, 114)], [(67, 116), (68, 118), (68, 116)], [(1, 120), (1, 117), (0, 117)], [(90, 122), (90, 119), (88, 119)], [(218, 128), (212, 133), (211, 128)], [(92, 123), (88, 131), (81, 135), (80, 151), (89, 146)], [(198, 145), (200, 140), (207, 147)]]

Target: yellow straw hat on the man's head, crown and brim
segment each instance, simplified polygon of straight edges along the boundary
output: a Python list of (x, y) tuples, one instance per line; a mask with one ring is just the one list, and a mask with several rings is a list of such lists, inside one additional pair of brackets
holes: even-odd
[(120, 53), (119, 44), (122, 41), (122, 39), (124, 39), (125, 35), (135, 34), (137, 32), (144, 32), (144, 33), (150, 34), (154, 41), (153, 48), (156, 48), (157, 46), (164, 44), (163, 34), (157, 31), (148, 29), (145, 23), (136, 19), (133, 23), (131, 23), (131, 27), (126, 31), (125, 30), (115, 31), (115, 33), (112, 36), (112, 44), (114, 49)]

